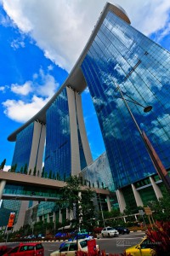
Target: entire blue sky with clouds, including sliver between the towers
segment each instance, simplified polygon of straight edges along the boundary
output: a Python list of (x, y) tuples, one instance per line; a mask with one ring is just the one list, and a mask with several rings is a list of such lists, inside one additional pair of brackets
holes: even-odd
[[(141, 2), (115, 3), (126, 10), (132, 26), (170, 50), (170, 1)], [(14, 153), (8, 135), (37, 113), (63, 84), (104, 6), (104, 0), (0, 0), (0, 162), (7, 159), (7, 170)], [(82, 94), (82, 104), (96, 159), (105, 146), (87, 91)]]

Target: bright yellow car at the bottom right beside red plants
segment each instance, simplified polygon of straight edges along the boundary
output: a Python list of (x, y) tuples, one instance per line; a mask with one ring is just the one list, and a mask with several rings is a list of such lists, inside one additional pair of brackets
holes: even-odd
[(132, 256), (156, 256), (156, 244), (151, 242), (148, 238), (144, 238), (139, 244), (133, 247), (128, 247), (124, 251), (125, 255)]

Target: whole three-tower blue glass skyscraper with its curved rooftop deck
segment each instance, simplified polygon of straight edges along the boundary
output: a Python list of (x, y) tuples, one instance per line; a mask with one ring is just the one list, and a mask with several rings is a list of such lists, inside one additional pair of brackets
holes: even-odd
[[(8, 137), (9, 141), (16, 141), (13, 164), (25, 164), (31, 149), (29, 169), (37, 162), (41, 168), (46, 138), (44, 168), (48, 177), (65, 180), (82, 172), (92, 186), (98, 186), (98, 181), (107, 183), (116, 190), (121, 212), (126, 206), (135, 208), (159, 199), (161, 180), (117, 88), (122, 90), (140, 129), (169, 171), (169, 75), (169, 52), (134, 29), (122, 8), (106, 3), (65, 83), (46, 106)], [(110, 166), (103, 156), (92, 164), (81, 102), (81, 93), (87, 86)], [(144, 113), (139, 104), (150, 105), (152, 110)], [(29, 137), (31, 144), (28, 141), (20, 153), (21, 143)], [(44, 207), (40, 208), (39, 218)]]

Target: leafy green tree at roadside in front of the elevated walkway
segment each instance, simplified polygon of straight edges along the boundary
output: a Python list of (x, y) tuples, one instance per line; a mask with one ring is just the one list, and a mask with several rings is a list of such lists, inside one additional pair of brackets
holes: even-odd
[(95, 217), (93, 198), (94, 191), (82, 189), (79, 177), (71, 176), (66, 179), (66, 186), (61, 189), (59, 208), (67, 208), (69, 212), (74, 212), (71, 223), (73, 228), (92, 228), (91, 224)]

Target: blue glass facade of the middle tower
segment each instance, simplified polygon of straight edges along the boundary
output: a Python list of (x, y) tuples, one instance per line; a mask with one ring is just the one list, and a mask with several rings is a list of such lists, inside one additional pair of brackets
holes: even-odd
[(45, 172), (64, 180), (71, 176), (71, 131), (66, 89), (62, 90), (46, 113)]

